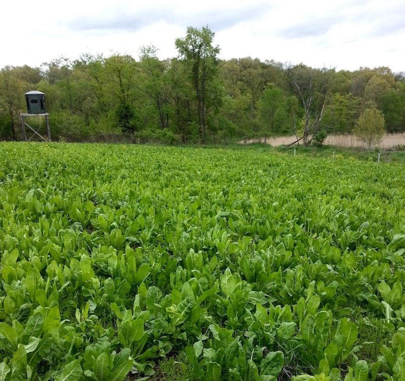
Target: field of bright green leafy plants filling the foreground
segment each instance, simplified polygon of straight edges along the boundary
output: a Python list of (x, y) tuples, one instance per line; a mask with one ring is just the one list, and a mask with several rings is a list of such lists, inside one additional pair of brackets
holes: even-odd
[(405, 380), (404, 167), (0, 143), (0, 381)]

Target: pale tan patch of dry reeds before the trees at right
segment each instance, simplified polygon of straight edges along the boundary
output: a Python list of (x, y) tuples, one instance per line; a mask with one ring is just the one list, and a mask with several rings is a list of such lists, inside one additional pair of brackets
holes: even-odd
[[(295, 136), (279, 136), (279, 137), (270, 137), (267, 138), (267, 144), (271, 146), (277, 147), (281, 145), (287, 145), (296, 141), (297, 138)], [(246, 144), (250, 143), (264, 143), (264, 137), (257, 138), (257, 139), (248, 139), (246, 140)], [(240, 141), (241, 144), (245, 143), (245, 140)], [(300, 142), (301, 143), (301, 142)], [(367, 148), (367, 146), (358, 141), (358, 139), (353, 135), (329, 135), (325, 140), (325, 144), (342, 147), (342, 148), (350, 148), (350, 147), (363, 147)], [(381, 140), (381, 143), (378, 145), (379, 148), (382, 149), (389, 149), (398, 144), (405, 145), (405, 133), (397, 133), (397, 134), (388, 134), (386, 133)]]

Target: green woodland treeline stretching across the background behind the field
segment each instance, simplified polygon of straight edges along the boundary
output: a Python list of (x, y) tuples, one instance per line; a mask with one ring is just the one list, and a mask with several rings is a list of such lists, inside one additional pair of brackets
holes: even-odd
[[(0, 70), (0, 139), (20, 140), (24, 93), (44, 92), (54, 140), (215, 142), (323, 131), (349, 134), (377, 109), (405, 132), (405, 75), (388, 67), (311, 68), (251, 57), (219, 60), (208, 28), (187, 28), (178, 57), (154, 46)], [(40, 121), (30, 118), (30, 124)], [(304, 136), (305, 137), (305, 136)], [(306, 141), (306, 138), (304, 138)]]

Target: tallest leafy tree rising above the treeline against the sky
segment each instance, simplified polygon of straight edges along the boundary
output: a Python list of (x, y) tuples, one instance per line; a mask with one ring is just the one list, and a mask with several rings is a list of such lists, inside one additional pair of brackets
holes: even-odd
[(194, 84), (197, 100), (197, 120), (200, 129), (200, 136), (206, 138), (207, 121), (207, 99), (210, 82), (217, 77), (219, 46), (213, 46), (215, 33), (207, 27), (196, 29), (191, 26), (187, 28), (184, 38), (176, 39), (176, 48), (188, 68), (190, 79)]

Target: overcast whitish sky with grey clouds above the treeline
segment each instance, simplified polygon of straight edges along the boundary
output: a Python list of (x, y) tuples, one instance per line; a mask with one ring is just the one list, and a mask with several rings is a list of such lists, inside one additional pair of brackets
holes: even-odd
[(187, 26), (206, 25), (222, 59), (405, 70), (404, 0), (7, 0), (0, 67), (84, 53), (138, 59), (139, 47), (149, 44), (159, 58), (172, 58)]

